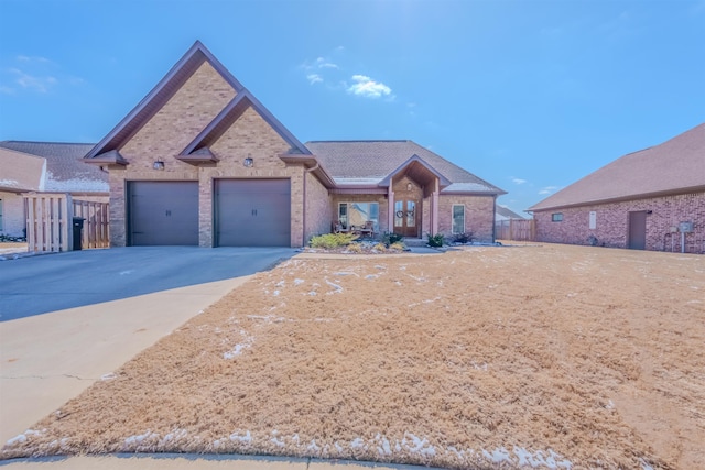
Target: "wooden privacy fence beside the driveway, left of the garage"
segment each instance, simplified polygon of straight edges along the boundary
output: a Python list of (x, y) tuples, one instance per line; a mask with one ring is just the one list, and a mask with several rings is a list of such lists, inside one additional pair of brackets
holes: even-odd
[[(74, 217), (85, 219), (80, 248), (107, 248), (108, 203), (73, 199), (68, 194), (24, 194), (26, 242), (32, 252), (70, 251), (74, 247)], [(76, 228), (78, 230), (78, 228)]]

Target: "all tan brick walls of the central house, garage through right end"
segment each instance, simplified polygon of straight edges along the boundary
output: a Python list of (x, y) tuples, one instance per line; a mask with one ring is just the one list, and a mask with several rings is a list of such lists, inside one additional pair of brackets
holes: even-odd
[[(109, 145), (115, 145), (112, 149), (95, 150), (96, 155), (99, 152), (118, 150), (121, 159), (128, 162), (123, 166), (120, 164), (122, 162), (116, 157), (109, 164), (110, 243), (112, 247), (124, 247), (130, 242), (127, 190), (130, 182), (138, 181), (198, 183), (198, 245), (200, 247), (214, 245), (216, 182), (228, 178), (281, 178), (290, 182), (291, 247), (302, 247), (311, 237), (329, 232), (332, 222), (338, 217), (338, 203), (341, 201), (378, 203), (379, 232), (393, 231), (393, 227), (389, 225), (388, 195), (329, 194), (328, 188), (318, 179), (318, 177), (326, 178), (325, 173), (323, 176), (321, 173), (312, 173), (316, 172), (316, 167), (307, 170), (305, 164), (300, 163), (296, 157), (285, 159), (286, 162), (282, 160), (283, 154), (293, 155), (296, 152), (305, 154), (307, 150), (280, 124), (272, 123), (275, 119), (269, 114), (269, 111), (263, 110), (259, 103), (250, 99), (249, 91), (241, 88), (235, 80), (228, 79), (228, 74), (220, 70), (217, 64), (215, 66), (213, 64), (208, 61), (200, 65), (194, 64), (193, 74), (161, 106), (159, 111), (141, 123), (131, 136), (126, 133), (127, 141), (110, 143)], [(238, 106), (243, 102), (249, 102), (250, 106), (245, 107), (237, 116), (224, 113), (225, 109), (228, 109), (228, 112), (238, 109), (228, 108), (229, 103), (235, 102), (232, 100), (236, 97), (241, 99), (237, 101)], [(239, 109), (238, 112), (240, 112)], [(206, 129), (208, 129), (207, 136), (204, 138), (202, 132)], [(192, 164), (180, 160), (181, 153), (192, 143), (207, 145), (216, 161), (206, 159)], [(292, 150), (294, 152), (290, 153)], [(301, 161), (311, 162), (310, 157), (304, 156), (305, 159)], [(251, 159), (253, 164), (245, 166), (245, 159)], [(156, 161), (164, 163), (163, 170), (153, 168)], [(424, 178), (432, 177), (426, 175)], [(409, 184), (412, 188), (408, 190)], [(394, 182), (393, 192), (397, 198), (410, 198), (419, 203), (419, 237), (433, 232), (430, 217), (433, 198), (423, 197), (423, 188), (405, 175)], [(476, 240), (494, 241), (494, 195), (441, 196), (436, 220), (440, 231), (446, 234), (451, 233), (452, 204), (465, 205), (466, 231), (473, 231)]]

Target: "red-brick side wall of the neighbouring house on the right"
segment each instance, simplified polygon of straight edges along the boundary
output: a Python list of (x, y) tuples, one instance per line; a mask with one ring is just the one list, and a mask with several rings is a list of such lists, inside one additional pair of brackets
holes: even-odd
[[(592, 211), (595, 229), (589, 228)], [(705, 193), (535, 211), (536, 241), (587, 245), (593, 240), (600, 247), (628, 248), (630, 211), (648, 214), (647, 250), (681, 252), (681, 233), (671, 230), (692, 221), (694, 231), (685, 233), (685, 252), (705, 253)], [(552, 221), (553, 214), (562, 214), (563, 220)]]

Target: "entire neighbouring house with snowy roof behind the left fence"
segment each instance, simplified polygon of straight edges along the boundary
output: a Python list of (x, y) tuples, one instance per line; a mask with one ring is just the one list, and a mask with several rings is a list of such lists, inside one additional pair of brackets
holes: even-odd
[(82, 200), (108, 200), (108, 173), (86, 165), (94, 144), (0, 142), (0, 234), (24, 237), (24, 193), (68, 193)]

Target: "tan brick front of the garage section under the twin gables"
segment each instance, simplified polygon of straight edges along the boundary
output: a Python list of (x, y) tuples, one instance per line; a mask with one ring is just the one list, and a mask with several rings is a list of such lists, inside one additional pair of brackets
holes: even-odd
[[(302, 164), (285, 164), (280, 154), (289, 144), (252, 108), (210, 146), (219, 160), (215, 166), (194, 166), (177, 160), (180, 153), (213, 121), (236, 96), (236, 91), (207, 62), (184, 84), (169, 102), (120, 149), (129, 162), (127, 167), (110, 167), (110, 238), (111, 245), (124, 247), (127, 240), (127, 182), (130, 181), (197, 181), (198, 244), (213, 247), (213, 201), (217, 178), (285, 178), (291, 181), (291, 245), (304, 243), (304, 168)], [(251, 167), (242, 165), (251, 157)], [(164, 162), (164, 170), (153, 170), (154, 161)], [(308, 175), (310, 179), (315, 179)], [(314, 194), (321, 193), (308, 183)], [(319, 199), (319, 196), (318, 196)], [(311, 200), (313, 208), (321, 201)], [(327, 204), (327, 199), (325, 201)], [(325, 205), (324, 204), (324, 205)], [(315, 219), (314, 219), (315, 220)], [(319, 222), (315, 222), (317, 227)]]

